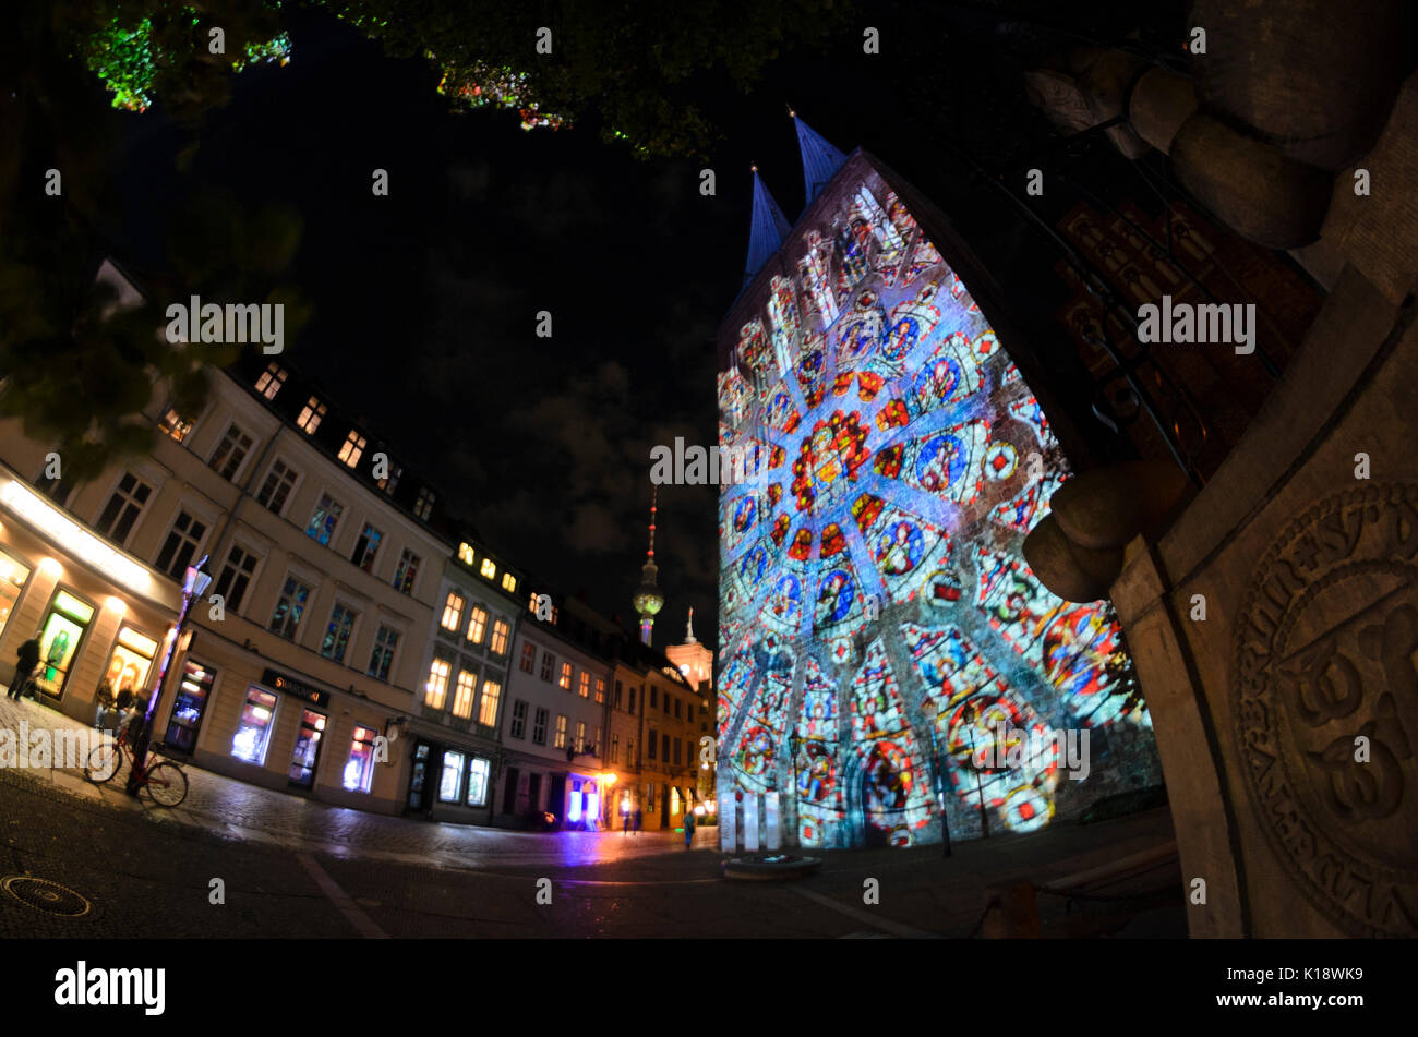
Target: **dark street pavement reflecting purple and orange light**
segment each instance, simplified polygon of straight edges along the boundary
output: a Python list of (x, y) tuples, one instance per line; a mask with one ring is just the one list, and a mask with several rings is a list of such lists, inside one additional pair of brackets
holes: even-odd
[[(20, 720), (72, 727), (0, 701), (0, 727)], [(122, 775), (94, 786), (78, 772), (0, 768), (0, 887), (45, 878), (91, 905), (67, 918), (0, 891), (0, 936), (966, 936), (997, 884), (1055, 881), (1173, 839), (1170, 813), (1153, 810), (960, 843), (949, 860), (939, 846), (828, 851), (804, 880), (736, 883), (713, 829), (686, 851), (674, 833), (430, 824), (187, 774), (190, 806), (169, 812), (123, 795)], [(864, 901), (868, 878), (876, 904)], [(1139, 915), (1134, 934), (1184, 935), (1174, 860), (1113, 891), (1159, 887), (1167, 904)], [(1048, 925), (1064, 904), (1045, 900)]]

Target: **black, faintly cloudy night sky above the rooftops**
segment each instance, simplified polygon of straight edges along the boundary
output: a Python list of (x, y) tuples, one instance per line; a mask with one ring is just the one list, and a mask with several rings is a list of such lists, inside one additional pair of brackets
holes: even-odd
[[(876, 20), (883, 55), (848, 37), (781, 57), (747, 96), (706, 98), (725, 139), (700, 163), (637, 160), (590, 128), (523, 132), (513, 112), (451, 112), (427, 62), (389, 60), (333, 17), (289, 7), (291, 64), (235, 76), (186, 176), (174, 159), (190, 137), (160, 98), (116, 116), (128, 146), (111, 232), (135, 259), (160, 259), (174, 198), (196, 186), (298, 208), (292, 273), (315, 313), (286, 358), (493, 550), (631, 620), (649, 449), (718, 439), (715, 332), (743, 280), (750, 164), (790, 221), (803, 208), (787, 103), (947, 210), (939, 135), (997, 129), (971, 96), (1022, 105), (1017, 72), (987, 64), (978, 40), (943, 26), (908, 40)], [(915, 50), (896, 60), (892, 45)], [(715, 197), (699, 193), (705, 164)], [(389, 170), (389, 197), (372, 194), (374, 169)], [(537, 310), (553, 314), (550, 340), (535, 336)], [(679, 640), (689, 606), (713, 643), (716, 490), (661, 487), (659, 506), (657, 643)]]

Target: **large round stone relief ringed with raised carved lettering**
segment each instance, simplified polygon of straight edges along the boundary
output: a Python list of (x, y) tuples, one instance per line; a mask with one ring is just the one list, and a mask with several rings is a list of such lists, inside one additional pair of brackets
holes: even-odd
[(1280, 866), (1343, 929), (1418, 935), (1418, 486), (1290, 523), (1232, 645), (1236, 748)]

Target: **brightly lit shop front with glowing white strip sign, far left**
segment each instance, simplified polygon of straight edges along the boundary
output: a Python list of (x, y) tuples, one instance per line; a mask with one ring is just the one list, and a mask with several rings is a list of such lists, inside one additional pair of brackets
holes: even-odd
[(92, 724), (99, 688), (146, 701), (180, 591), (0, 468), (0, 680), (34, 638), (41, 703)]

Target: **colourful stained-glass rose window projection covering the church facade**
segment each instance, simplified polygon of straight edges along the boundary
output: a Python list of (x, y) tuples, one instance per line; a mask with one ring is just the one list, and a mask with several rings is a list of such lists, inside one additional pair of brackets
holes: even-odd
[[(720, 499), (719, 795), (795, 785), (800, 844), (905, 846), (940, 837), (933, 761), (959, 837), (981, 799), (1022, 832), (1064, 786), (1156, 782), (1110, 606), (1022, 560), (1068, 476), (1038, 400), (875, 169), (827, 196), (726, 324), (720, 446), (766, 460)], [(1085, 782), (1068, 730), (1095, 735)]]

